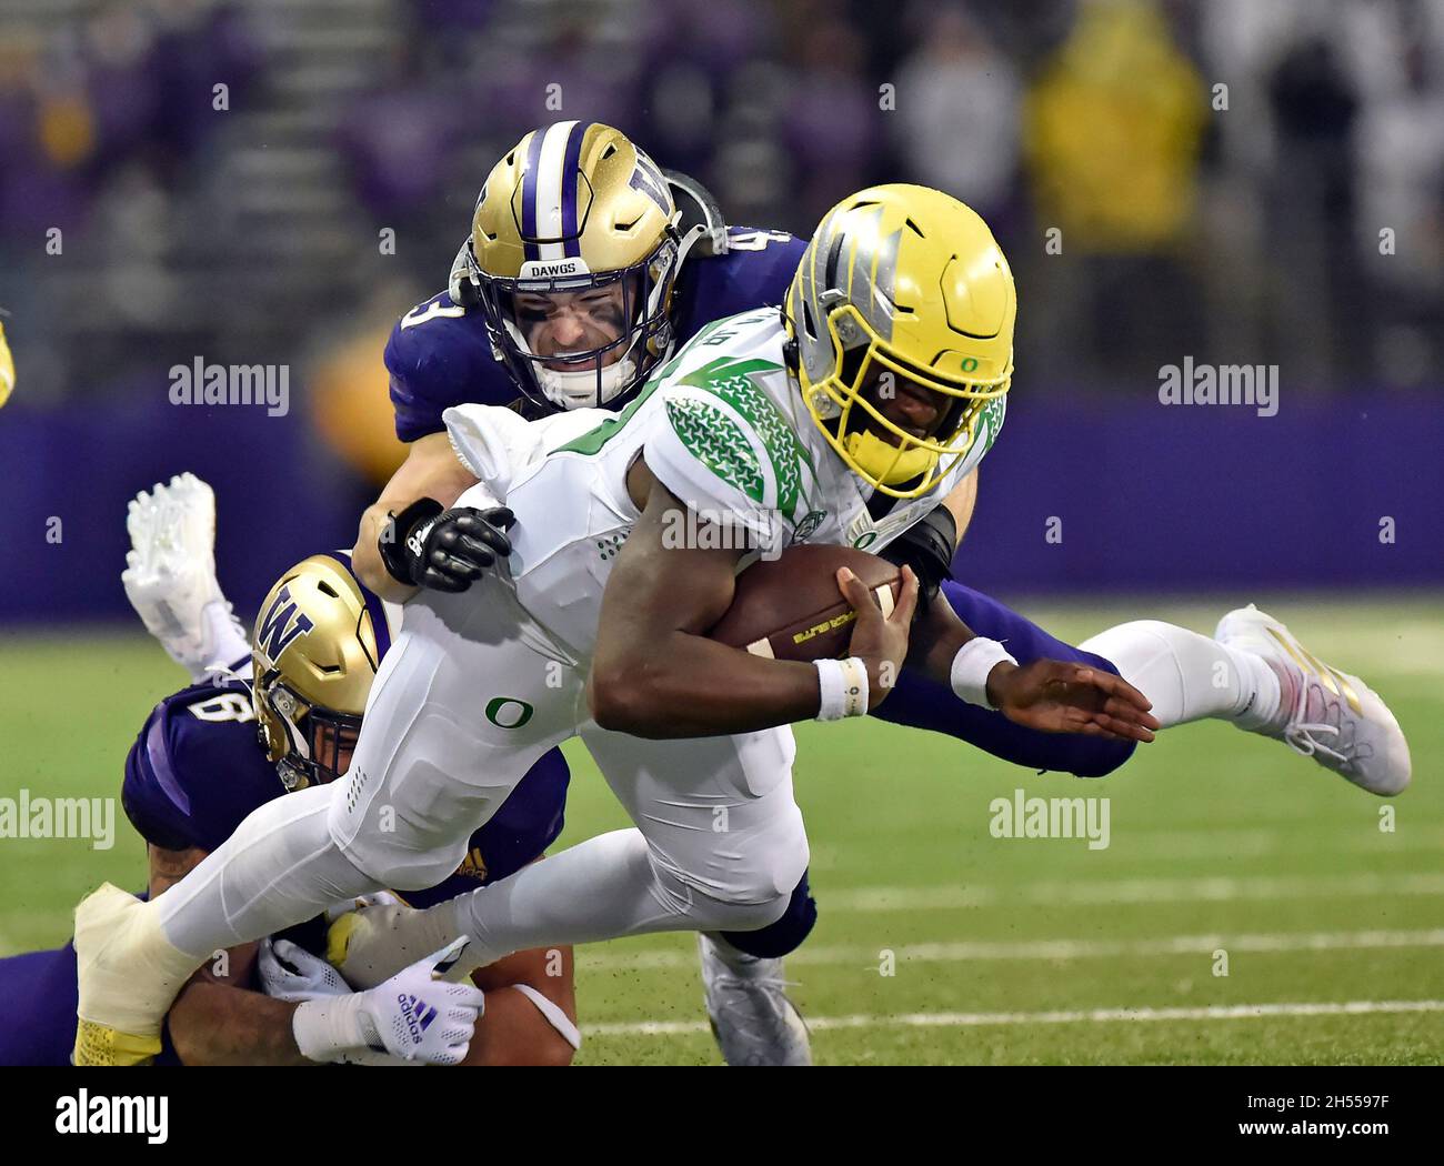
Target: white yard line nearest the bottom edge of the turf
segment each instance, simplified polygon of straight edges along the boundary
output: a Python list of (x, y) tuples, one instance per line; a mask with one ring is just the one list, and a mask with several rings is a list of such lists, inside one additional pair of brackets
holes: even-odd
[[(809, 1016), (829, 1029), (972, 1029), (1005, 1025), (1129, 1025), (1158, 1020), (1269, 1020), (1295, 1016), (1376, 1016), (1444, 1012), (1444, 1000), (1344, 1000), (1340, 1003), (1230, 1004), (1199, 1009), (1084, 1009), (1076, 1012), (914, 1012), (897, 1016)], [(588, 1036), (683, 1036), (708, 1032), (705, 1020), (638, 1020), (583, 1025)]]

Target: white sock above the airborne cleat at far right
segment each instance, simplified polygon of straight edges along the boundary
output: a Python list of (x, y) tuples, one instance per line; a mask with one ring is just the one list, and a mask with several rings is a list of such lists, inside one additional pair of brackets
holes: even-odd
[(1259, 729), (1279, 711), (1278, 675), (1253, 652), (1157, 619), (1119, 623), (1079, 645), (1113, 662), (1170, 724), (1219, 717)]

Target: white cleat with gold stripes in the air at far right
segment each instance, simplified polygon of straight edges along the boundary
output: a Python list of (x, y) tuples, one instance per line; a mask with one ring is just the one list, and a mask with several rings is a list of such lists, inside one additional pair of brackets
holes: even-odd
[(1409, 784), (1409, 743), (1393, 713), (1359, 677), (1324, 664), (1252, 603), (1219, 621), (1214, 639), (1253, 652), (1278, 672), (1279, 719), (1256, 732), (1288, 743), (1354, 785), (1389, 798)]

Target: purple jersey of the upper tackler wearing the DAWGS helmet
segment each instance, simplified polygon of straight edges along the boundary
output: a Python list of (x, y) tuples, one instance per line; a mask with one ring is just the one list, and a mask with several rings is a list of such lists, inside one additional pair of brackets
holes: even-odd
[[(784, 231), (729, 227), (725, 255), (687, 260), (677, 277), (673, 323), (677, 346), (703, 326), (739, 312), (781, 304), (801, 263), (806, 241)], [(452, 406), (510, 406), (520, 393), (491, 354), (479, 307), (452, 303), (448, 293), (419, 303), (391, 329), (386, 343), (396, 436), (414, 442), (440, 433)], [(611, 407), (625, 404), (625, 398)]]

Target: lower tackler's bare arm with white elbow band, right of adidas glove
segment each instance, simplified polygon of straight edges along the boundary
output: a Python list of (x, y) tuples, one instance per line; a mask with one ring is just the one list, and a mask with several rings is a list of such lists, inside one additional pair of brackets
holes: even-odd
[(580, 1043), (572, 948), (518, 951), (471, 978), (487, 993), (487, 1012), (462, 1065), (572, 1064)]

